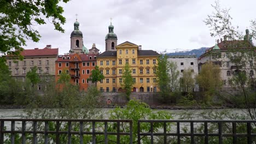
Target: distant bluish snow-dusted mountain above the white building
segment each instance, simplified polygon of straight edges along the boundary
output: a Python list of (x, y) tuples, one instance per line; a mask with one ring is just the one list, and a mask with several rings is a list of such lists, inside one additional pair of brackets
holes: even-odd
[(196, 55), (196, 57), (201, 56), (205, 51), (208, 49), (208, 47), (201, 47), (200, 49), (194, 49), (189, 51), (176, 51), (167, 53), (167, 56), (181, 56), (181, 55)]

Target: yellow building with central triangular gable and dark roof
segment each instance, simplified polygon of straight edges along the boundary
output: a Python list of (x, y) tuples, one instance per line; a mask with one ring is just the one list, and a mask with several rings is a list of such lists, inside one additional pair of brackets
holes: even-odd
[(97, 88), (103, 92), (122, 91), (122, 73), (128, 63), (135, 81), (132, 92), (157, 92), (155, 64), (159, 53), (141, 50), (141, 47), (129, 41), (115, 48), (117, 51), (105, 51), (97, 57), (97, 65), (105, 77), (97, 83)]

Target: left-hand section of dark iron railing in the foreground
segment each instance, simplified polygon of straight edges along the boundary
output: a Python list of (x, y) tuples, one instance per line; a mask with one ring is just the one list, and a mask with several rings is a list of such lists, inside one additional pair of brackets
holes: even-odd
[[(5, 123), (10, 123), (10, 130), (7, 130)], [(15, 128), (15, 122), (21, 122), (19, 128)], [(49, 123), (53, 122), (56, 126), (55, 130), (49, 130)], [(26, 124), (32, 124), (32, 127), (26, 127)], [(60, 130), (60, 127), (63, 127), (63, 123), (67, 123), (67, 130)], [(79, 130), (72, 130), (72, 123), (79, 123)], [(91, 123), (91, 130), (84, 131), (87, 123)], [(104, 128), (100, 131), (96, 130), (95, 123), (104, 123)], [(117, 125), (117, 131), (108, 131), (108, 123), (115, 123)], [(120, 123), (127, 123), (129, 125), (129, 131), (124, 132), (120, 130)], [(38, 128), (38, 124), (43, 124), (43, 130)], [(30, 129), (29, 129), (30, 128)], [(44, 143), (61, 143), (60, 135), (67, 135), (67, 143), (72, 143), (72, 135), (79, 135), (79, 143), (84, 143), (83, 136), (91, 135), (92, 143), (96, 143), (96, 135), (104, 135), (104, 142), (108, 143), (108, 135), (117, 136), (117, 142), (120, 143), (120, 136), (127, 135), (130, 136), (130, 144), (132, 143), (132, 121), (131, 120), (109, 120), (109, 119), (0, 119), (0, 143), (4, 143), (6, 139), (5, 135), (10, 134), (10, 143), (15, 143), (15, 134), (21, 135), (21, 143), (26, 143), (26, 136), (28, 134), (32, 135), (32, 143), (38, 143), (37, 136), (43, 134)], [(55, 135), (55, 139), (50, 140), (50, 135)], [(66, 142), (65, 142), (66, 143)]]

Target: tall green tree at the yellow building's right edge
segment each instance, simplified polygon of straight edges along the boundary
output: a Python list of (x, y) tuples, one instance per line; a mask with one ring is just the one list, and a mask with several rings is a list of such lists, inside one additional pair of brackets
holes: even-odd
[(167, 60), (168, 56), (160, 55), (158, 57), (158, 64), (156, 64), (156, 80), (158, 82), (158, 87), (160, 88), (160, 93), (165, 99), (170, 94), (170, 64)]

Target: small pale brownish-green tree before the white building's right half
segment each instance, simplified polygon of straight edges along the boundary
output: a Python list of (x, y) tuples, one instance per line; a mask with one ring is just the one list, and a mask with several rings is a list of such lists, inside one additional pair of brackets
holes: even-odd
[(195, 80), (193, 78), (193, 71), (191, 69), (184, 69), (182, 74), (181, 87), (184, 92), (191, 92), (195, 86)]

